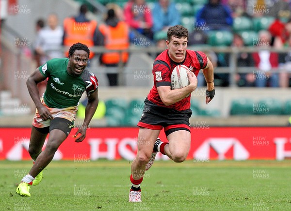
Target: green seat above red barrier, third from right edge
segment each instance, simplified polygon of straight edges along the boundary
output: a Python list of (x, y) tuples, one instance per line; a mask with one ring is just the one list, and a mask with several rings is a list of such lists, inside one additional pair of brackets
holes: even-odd
[(249, 98), (232, 100), (230, 115), (254, 115), (254, 101)]

